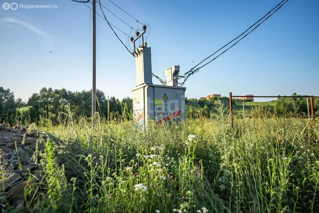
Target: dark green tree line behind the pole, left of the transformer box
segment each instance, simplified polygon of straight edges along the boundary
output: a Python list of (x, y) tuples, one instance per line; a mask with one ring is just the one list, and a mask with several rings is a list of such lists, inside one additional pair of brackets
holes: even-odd
[[(133, 102), (130, 97), (123, 98), (122, 101), (114, 96), (108, 99), (105, 94), (96, 90), (96, 111), (100, 116), (108, 118), (110, 116), (127, 116), (133, 109)], [(92, 90), (72, 92), (70, 90), (52, 89), (43, 87), (39, 93), (33, 93), (27, 101), (21, 98), (15, 100), (10, 89), (0, 87), (0, 123), (28, 119), (29, 122), (39, 122), (46, 117), (46, 108), (49, 109), (49, 119), (53, 124), (57, 124), (61, 112), (67, 113), (67, 108), (76, 116), (91, 117)]]

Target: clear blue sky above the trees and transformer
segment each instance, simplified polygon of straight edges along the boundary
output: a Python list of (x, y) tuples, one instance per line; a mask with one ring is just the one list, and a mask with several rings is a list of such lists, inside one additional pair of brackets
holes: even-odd
[[(15, 2), (43, 4), (44, 1)], [(151, 25), (147, 43), (152, 48), (152, 71), (164, 79), (164, 69), (180, 65), (181, 73), (187, 72), (280, 1), (114, 2), (142, 23)], [(101, 3), (137, 27), (134, 19), (108, 0)], [(23, 99), (42, 87), (72, 91), (92, 87), (91, 10), (70, 0), (47, 0), (45, 4), (58, 8), (13, 11), (0, 7), (0, 86), (10, 88), (16, 97)], [(185, 95), (189, 98), (213, 93), (228, 96), (229, 92), (319, 95), (318, 8), (317, 0), (288, 1), (241, 42), (189, 77)], [(103, 11), (112, 24), (130, 33), (130, 27), (106, 9)], [(102, 14), (98, 5), (97, 12)], [(97, 88), (106, 96), (131, 97), (135, 59), (99, 16), (96, 29)], [(116, 32), (125, 42), (126, 35)], [(158, 81), (153, 79), (153, 83)]]

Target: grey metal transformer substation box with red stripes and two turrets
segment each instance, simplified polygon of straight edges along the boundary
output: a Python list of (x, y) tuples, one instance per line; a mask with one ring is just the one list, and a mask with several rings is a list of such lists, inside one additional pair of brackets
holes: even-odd
[(179, 66), (164, 70), (166, 85), (152, 83), (151, 48), (142, 45), (135, 51), (136, 87), (133, 94), (134, 121), (147, 126), (148, 119), (157, 123), (185, 120), (185, 90), (176, 82)]

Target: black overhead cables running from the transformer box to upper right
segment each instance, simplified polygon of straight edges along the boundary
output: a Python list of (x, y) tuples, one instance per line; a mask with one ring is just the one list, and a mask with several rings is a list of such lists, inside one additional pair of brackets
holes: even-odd
[[(284, 2), (284, 1), (285, 1), (285, 0), (283, 0), (282, 2)], [(284, 4), (286, 4), (287, 1), (289, 1), (289, 0), (286, 0), (286, 2), (284, 2)], [(281, 3), (282, 3), (282, 2), (281, 2)], [(280, 3), (280, 4), (281, 4), (281, 3)], [(278, 4), (278, 5), (280, 5), (280, 4)], [(244, 35), (240, 40), (238, 40), (237, 42), (235, 42), (232, 46), (230, 46), (229, 48), (227, 48), (225, 51), (223, 51), (222, 53), (220, 53), (218, 56), (216, 56), (215, 58), (213, 58), (211, 61), (209, 61), (209, 62), (207, 62), (206, 64), (202, 65), (201, 67), (198, 67), (197, 69), (193, 70), (193, 69), (197, 66), (197, 65), (196, 65), (196, 66), (193, 67), (190, 71), (185, 72), (185, 74), (184, 74), (184, 81), (183, 81), (182, 83), (180, 83), (180, 84), (183, 86), (184, 83), (185, 83), (185, 81), (188, 79), (188, 77), (189, 77), (190, 75), (192, 75), (192, 74), (194, 74), (195, 72), (197, 72), (200, 68), (202, 68), (202, 67), (208, 65), (208, 64), (211, 63), (213, 60), (215, 60), (217, 57), (219, 57), (220, 55), (222, 55), (223, 53), (225, 53), (228, 49), (232, 48), (235, 44), (237, 44), (238, 42), (240, 42), (243, 38), (245, 38), (245, 37), (246, 37), (247, 35), (249, 35), (252, 31), (254, 31), (257, 27), (259, 27), (265, 20), (267, 20), (269, 17), (271, 17), (276, 11), (278, 11), (284, 4), (280, 5), (280, 6), (279, 6), (274, 12), (272, 12), (266, 19), (264, 19), (264, 20), (263, 20), (261, 23), (259, 23), (256, 27), (254, 27), (251, 31), (249, 31), (248, 34)], [(277, 6), (278, 6), (278, 5), (277, 5)], [(277, 6), (276, 6), (276, 7), (277, 7)], [(276, 8), (276, 7), (275, 7), (275, 8)], [(275, 9), (275, 8), (274, 8), (274, 9)], [(272, 9), (271, 11), (273, 11), (274, 9)], [(271, 11), (270, 11), (270, 12), (271, 12)], [(269, 14), (270, 12), (268, 12), (267, 14)], [(266, 15), (267, 15), (267, 14), (266, 14)], [(266, 16), (266, 15), (265, 15), (265, 16)], [(264, 17), (265, 17), (265, 16), (264, 16)], [(263, 18), (264, 18), (264, 17), (263, 17)], [(262, 18), (262, 19), (263, 19), (263, 18)], [(262, 20), (262, 19), (260, 19), (260, 20)], [(259, 21), (260, 21), (260, 20), (259, 20)], [(258, 22), (259, 22), (259, 21), (258, 21)], [(257, 23), (257, 22), (256, 22), (256, 23)], [(256, 23), (255, 23), (255, 24), (256, 24)], [(254, 25), (255, 25), (255, 24), (254, 24)], [(254, 25), (252, 25), (252, 26), (254, 26)], [(249, 27), (247, 30), (249, 30), (250, 28), (251, 28), (251, 27)], [(246, 30), (245, 32), (247, 32), (247, 30)], [(244, 33), (245, 33), (245, 32), (244, 32)], [(242, 33), (242, 34), (244, 34), (244, 33)], [(242, 35), (242, 34), (241, 34), (241, 35)], [(241, 36), (241, 35), (240, 35), (240, 36)], [(238, 36), (238, 37), (240, 37), (240, 36)], [(238, 37), (237, 37), (237, 38), (238, 38)], [(236, 39), (237, 39), (237, 38), (236, 38)], [(234, 40), (235, 40), (235, 39), (234, 39)], [(234, 40), (233, 40), (233, 41), (234, 41)], [(229, 42), (229, 43), (230, 43), (230, 42)], [(229, 44), (229, 43), (228, 43), (228, 44)], [(225, 46), (227, 46), (228, 44), (226, 44)], [(225, 46), (224, 46), (224, 47), (225, 47)], [(222, 48), (224, 48), (224, 47), (222, 47)], [(220, 49), (222, 49), (222, 48), (220, 48)], [(219, 49), (219, 50), (220, 50), (220, 49)], [(215, 53), (217, 53), (219, 50), (217, 50)], [(215, 53), (213, 53), (212, 55), (214, 55)], [(211, 56), (212, 56), (212, 55), (211, 55)], [(211, 57), (211, 56), (209, 56), (209, 57)], [(207, 58), (209, 58), (209, 57), (207, 57)], [(206, 59), (207, 59), (207, 58), (206, 58)], [(203, 61), (205, 61), (206, 59), (204, 59)], [(202, 62), (203, 62), (203, 61), (202, 61)], [(202, 62), (200, 62), (199, 64), (201, 64)], [(199, 64), (198, 64), (198, 65), (199, 65)]]

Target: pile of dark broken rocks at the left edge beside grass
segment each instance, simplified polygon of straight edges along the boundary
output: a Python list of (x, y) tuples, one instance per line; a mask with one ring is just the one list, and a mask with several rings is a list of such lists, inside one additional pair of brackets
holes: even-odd
[[(42, 179), (35, 152), (41, 150), (41, 142), (36, 135), (35, 130), (22, 126), (0, 125), (0, 212), (6, 212), (7, 204), (15, 212), (25, 211), (25, 186), (35, 186)], [(27, 210), (33, 210), (31, 205)]]

